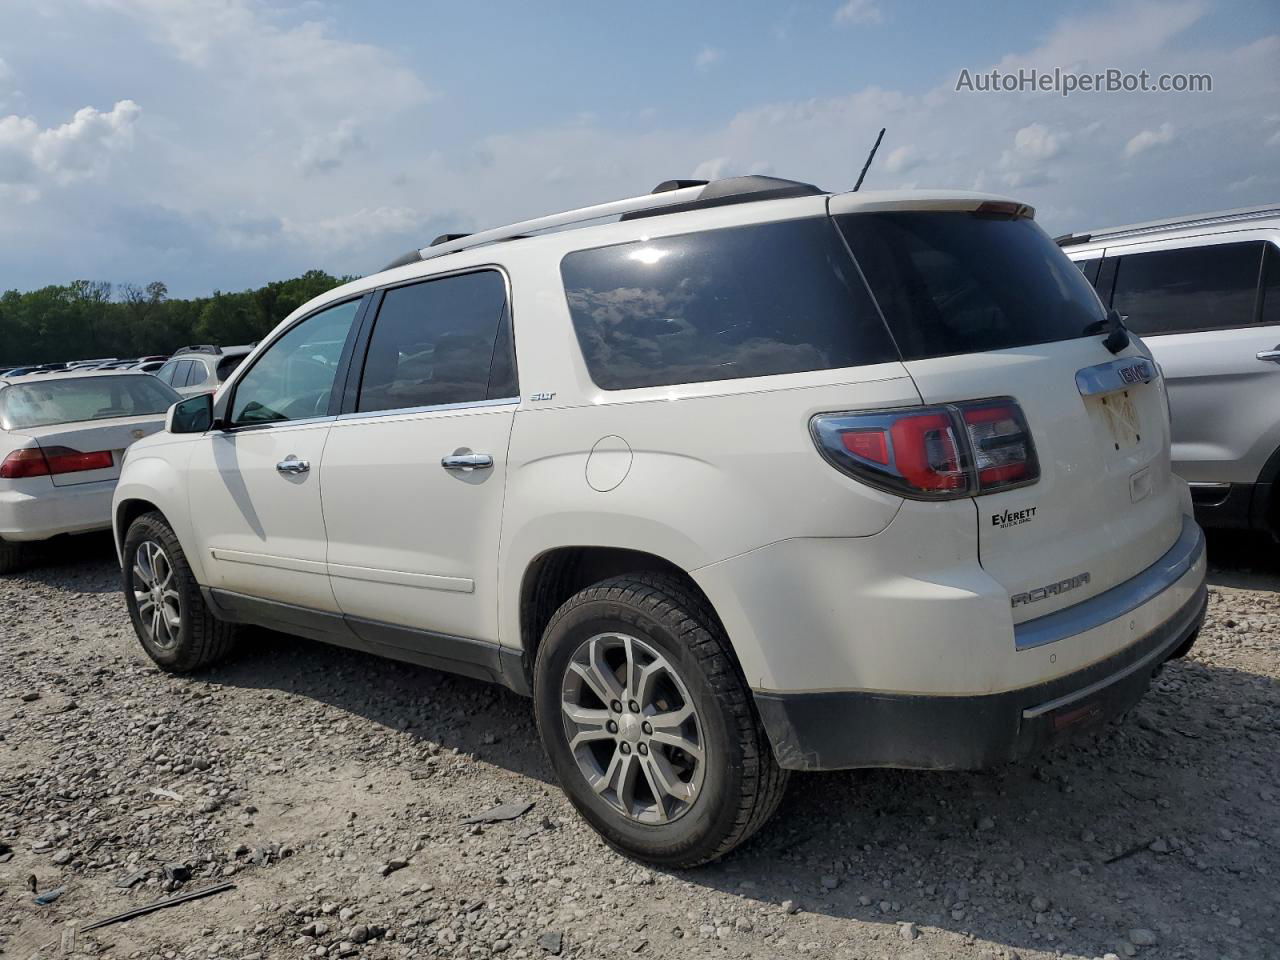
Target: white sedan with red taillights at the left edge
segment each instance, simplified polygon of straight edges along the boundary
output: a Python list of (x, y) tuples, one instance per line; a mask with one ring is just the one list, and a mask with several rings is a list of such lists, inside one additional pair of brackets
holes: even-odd
[(0, 573), (33, 540), (110, 527), (124, 449), (179, 399), (132, 370), (0, 379)]

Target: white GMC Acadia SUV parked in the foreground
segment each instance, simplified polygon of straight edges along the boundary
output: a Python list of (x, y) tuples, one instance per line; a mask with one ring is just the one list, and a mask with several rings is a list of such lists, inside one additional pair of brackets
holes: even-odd
[(672, 867), (788, 771), (1089, 728), (1190, 648), (1203, 535), (1155, 364), (1032, 218), (744, 177), (443, 237), (129, 448), (138, 637), (529, 694), (581, 814)]

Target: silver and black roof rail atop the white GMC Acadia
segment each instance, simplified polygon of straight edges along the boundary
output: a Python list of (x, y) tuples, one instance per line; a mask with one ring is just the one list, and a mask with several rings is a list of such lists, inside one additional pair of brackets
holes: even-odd
[(498, 243), (507, 239), (521, 239), (543, 230), (554, 230), (562, 227), (573, 227), (617, 216), (628, 220), (637, 216), (652, 216), (660, 212), (680, 212), (682, 210), (695, 210), (705, 206), (721, 206), (724, 204), (742, 204), (756, 200), (780, 200), (783, 197), (819, 196), (826, 191), (814, 187), (812, 183), (799, 180), (785, 180), (778, 177), (730, 177), (722, 180), (663, 180), (652, 193), (626, 200), (613, 200), (607, 204), (566, 210), (561, 214), (539, 216), (532, 220), (495, 227), (479, 233), (443, 234), (436, 237), (430, 246), (410, 251), (402, 257), (397, 257), (383, 270), (396, 266), (404, 266), (419, 260), (434, 260), (447, 253), (457, 253), (462, 250), (481, 247), (486, 243)]

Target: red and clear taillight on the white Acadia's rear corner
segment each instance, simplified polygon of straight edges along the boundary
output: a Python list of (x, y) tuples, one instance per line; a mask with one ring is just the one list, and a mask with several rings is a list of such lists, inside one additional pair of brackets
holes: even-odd
[(820, 413), (812, 430), (832, 466), (913, 499), (977, 497), (1039, 477), (1027, 419), (1007, 397)]

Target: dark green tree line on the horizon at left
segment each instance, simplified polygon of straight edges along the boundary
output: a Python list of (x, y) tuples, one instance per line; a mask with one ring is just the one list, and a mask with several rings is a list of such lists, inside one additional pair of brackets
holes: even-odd
[(163, 283), (76, 280), (0, 294), (0, 367), (141, 357), (191, 343), (251, 343), (312, 297), (351, 278), (308, 270), (253, 291), (170, 298)]

